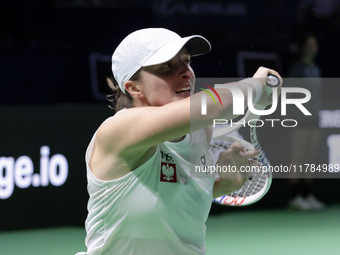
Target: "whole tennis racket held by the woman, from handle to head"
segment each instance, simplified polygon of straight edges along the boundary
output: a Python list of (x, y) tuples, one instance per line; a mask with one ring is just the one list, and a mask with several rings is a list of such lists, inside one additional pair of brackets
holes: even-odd
[[(267, 87), (265, 89), (268, 96), (273, 91), (273, 88), (277, 88), (280, 86), (280, 80), (277, 76), (270, 74), (267, 78)], [(277, 91), (275, 95), (277, 95)], [(254, 106), (258, 110), (264, 110), (264, 106), (255, 105)], [(244, 120), (255, 121), (259, 119), (260, 116), (254, 115), (248, 109), (246, 115), (244, 116)], [(242, 119), (242, 120), (243, 120)], [(233, 192), (232, 194), (224, 195), (222, 197), (215, 198), (213, 201), (222, 205), (229, 206), (244, 206), (250, 205), (257, 201), (259, 201), (269, 190), (271, 182), (272, 182), (272, 173), (268, 171), (267, 167), (269, 166), (269, 160), (262, 150), (259, 141), (257, 140), (256, 134), (256, 126), (251, 125), (250, 127), (250, 139), (251, 144), (245, 140), (228, 136), (227, 134), (239, 129), (241, 125), (237, 125), (234, 127), (226, 127), (223, 129), (216, 130), (213, 133), (213, 139), (210, 143), (210, 154), (214, 160), (217, 161), (220, 153), (224, 150), (227, 150), (229, 146), (233, 142), (240, 142), (247, 150), (259, 150), (260, 154), (256, 156), (254, 159), (259, 161), (262, 166), (258, 168), (256, 171), (250, 172), (247, 181), (242, 186), (242, 188), (238, 191)], [(219, 138), (219, 139), (216, 139)], [(264, 167), (263, 167), (264, 166)]]

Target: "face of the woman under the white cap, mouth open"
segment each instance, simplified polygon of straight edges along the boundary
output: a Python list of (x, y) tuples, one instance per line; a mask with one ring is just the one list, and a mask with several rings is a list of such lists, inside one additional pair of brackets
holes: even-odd
[(137, 82), (143, 106), (162, 106), (189, 97), (194, 90), (195, 74), (190, 55), (183, 48), (174, 58), (162, 64), (144, 67)]

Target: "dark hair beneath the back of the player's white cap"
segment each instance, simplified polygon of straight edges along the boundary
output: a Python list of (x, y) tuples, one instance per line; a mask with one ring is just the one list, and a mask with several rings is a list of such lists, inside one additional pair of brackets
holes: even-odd
[[(138, 81), (140, 79), (140, 69), (131, 77), (130, 81)], [(107, 95), (106, 99), (111, 103), (109, 107), (111, 109), (116, 110), (116, 112), (124, 109), (124, 108), (132, 108), (135, 107), (133, 104), (133, 98), (129, 94), (128, 91), (123, 91), (120, 89), (117, 81), (111, 77), (106, 78), (107, 84), (109, 85), (110, 89), (112, 90), (112, 94)]]

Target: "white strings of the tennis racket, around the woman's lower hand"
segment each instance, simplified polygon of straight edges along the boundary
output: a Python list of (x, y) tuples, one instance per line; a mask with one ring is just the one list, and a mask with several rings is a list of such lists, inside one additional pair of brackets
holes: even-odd
[[(232, 142), (226, 140), (214, 140), (212, 144), (210, 144), (210, 154), (216, 163), (218, 157), (222, 151), (227, 150)], [(259, 161), (257, 157), (252, 158), (256, 161)], [(242, 188), (238, 191), (233, 192), (230, 196), (233, 197), (249, 197), (256, 193), (259, 193), (263, 188), (266, 187), (268, 175), (266, 172), (261, 171), (261, 168), (257, 168), (256, 171), (253, 171), (249, 174), (247, 181), (242, 186)]]

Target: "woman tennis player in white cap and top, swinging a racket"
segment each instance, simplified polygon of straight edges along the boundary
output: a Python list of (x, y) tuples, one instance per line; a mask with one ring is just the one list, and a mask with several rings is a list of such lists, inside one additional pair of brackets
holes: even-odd
[[(212, 165), (208, 144), (213, 119), (232, 119), (229, 90), (216, 89), (223, 105), (192, 95), (193, 56), (210, 51), (202, 36), (180, 37), (163, 28), (128, 35), (112, 56), (113, 90), (118, 112), (98, 128), (86, 152), (88, 217), (87, 252), (78, 254), (205, 254), (205, 222), (213, 197), (240, 189), (240, 173), (195, 172)], [(253, 101), (268, 105), (264, 93), (269, 73), (259, 68), (251, 79), (235, 82), (244, 104), (247, 88)], [(205, 92), (201, 92), (205, 93)], [(225, 165), (252, 166), (234, 143), (219, 159)]]

